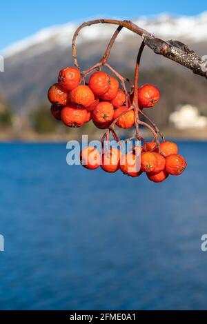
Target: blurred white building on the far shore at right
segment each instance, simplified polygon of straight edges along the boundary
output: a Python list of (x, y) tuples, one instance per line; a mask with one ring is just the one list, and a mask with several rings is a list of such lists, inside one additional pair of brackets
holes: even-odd
[(170, 114), (169, 121), (179, 130), (207, 127), (207, 117), (200, 116), (199, 110), (193, 105), (180, 105), (175, 112)]

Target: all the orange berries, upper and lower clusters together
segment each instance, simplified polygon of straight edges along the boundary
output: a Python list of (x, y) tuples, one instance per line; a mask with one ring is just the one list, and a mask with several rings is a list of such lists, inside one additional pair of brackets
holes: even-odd
[[(181, 174), (186, 168), (186, 161), (178, 154), (175, 143), (164, 141), (164, 137), (150, 119), (148, 120), (155, 128), (152, 129), (152, 134), (156, 141), (146, 142), (140, 136), (136, 136), (143, 145), (121, 154), (118, 148), (104, 150), (103, 140), (105, 137), (108, 140), (108, 135), (112, 131), (114, 138), (119, 142), (114, 126), (132, 128), (136, 121), (138, 125), (141, 122), (138, 118), (136, 120), (136, 109), (132, 108), (137, 106), (138, 112), (144, 114), (142, 110), (154, 107), (159, 97), (159, 90), (154, 85), (146, 84), (137, 89), (137, 102), (135, 102), (135, 85), (131, 86), (130, 92), (126, 92), (126, 88), (121, 90), (119, 81), (102, 71), (92, 73), (86, 84), (84, 74), (81, 77), (79, 69), (73, 67), (61, 70), (58, 83), (52, 85), (48, 91), (48, 99), (52, 103), (51, 112), (55, 119), (73, 128), (80, 127), (92, 119), (97, 128), (108, 129), (101, 140), (101, 154), (97, 148), (91, 146), (81, 152), (80, 159), (84, 168), (95, 170), (101, 166), (104, 171), (110, 173), (120, 169), (124, 174), (132, 177), (146, 172), (148, 179), (154, 182), (164, 181), (169, 174)], [(161, 143), (158, 135), (163, 139)]]

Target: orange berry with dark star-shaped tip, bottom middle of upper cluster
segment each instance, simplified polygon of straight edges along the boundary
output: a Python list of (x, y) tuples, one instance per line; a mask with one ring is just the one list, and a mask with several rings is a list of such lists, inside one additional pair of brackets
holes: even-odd
[(92, 111), (92, 120), (96, 123), (106, 123), (112, 121), (114, 116), (114, 108), (111, 103), (101, 101)]

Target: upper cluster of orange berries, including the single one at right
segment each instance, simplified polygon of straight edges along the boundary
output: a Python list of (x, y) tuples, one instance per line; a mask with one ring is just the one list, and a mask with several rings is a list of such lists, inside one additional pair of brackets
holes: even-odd
[[(48, 91), (51, 113), (55, 119), (73, 128), (92, 119), (97, 128), (107, 129), (117, 119), (119, 128), (135, 124), (135, 112), (128, 110), (126, 94), (119, 89), (119, 81), (106, 72), (91, 74), (88, 85), (80, 84), (81, 73), (77, 68), (64, 68), (59, 72), (58, 83)], [(132, 99), (132, 95), (128, 94)], [(159, 90), (153, 85), (139, 88), (139, 107), (150, 108), (159, 101)], [(121, 117), (118, 119), (118, 117)]]

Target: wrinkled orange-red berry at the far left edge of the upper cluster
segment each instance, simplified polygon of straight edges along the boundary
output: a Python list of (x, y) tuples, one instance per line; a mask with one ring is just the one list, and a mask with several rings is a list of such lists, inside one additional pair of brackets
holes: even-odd
[(66, 92), (59, 83), (55, 83), (48, 90), (48, 99), (50, 103), (66, 105), (68, 101), (68, 92)]

